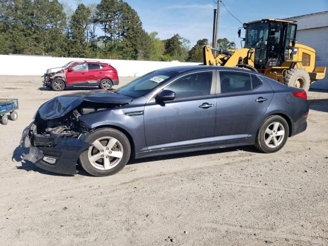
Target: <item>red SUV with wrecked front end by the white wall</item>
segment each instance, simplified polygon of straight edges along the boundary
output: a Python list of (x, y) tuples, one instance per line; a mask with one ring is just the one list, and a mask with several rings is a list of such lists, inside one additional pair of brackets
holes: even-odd
[(117, 70), (106, 63), (83, 61), (61, 70), (45, 81), (45, 86), (54, 91), (63, 91), (70, 86), (99, 86), (111, 89), (118, 85)]

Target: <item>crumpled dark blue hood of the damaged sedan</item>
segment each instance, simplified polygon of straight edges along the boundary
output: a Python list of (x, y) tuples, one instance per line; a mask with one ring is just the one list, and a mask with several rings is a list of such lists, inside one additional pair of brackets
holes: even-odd
[(107, 90), (77, 92), (50, 99), (38, 109), (38, 114), (42, 119), (49, 120), (65, 116), (84, 101), (104, 104), (128, 104), (132, 99), (132, 97)]

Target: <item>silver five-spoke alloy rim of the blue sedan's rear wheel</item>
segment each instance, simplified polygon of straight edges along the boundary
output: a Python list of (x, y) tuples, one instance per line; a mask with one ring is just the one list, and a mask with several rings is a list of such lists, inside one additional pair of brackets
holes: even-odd
[(280, 122), (272, 122), (264, 133), (264, 142), (270, 148), (281, 145), (285, 136), (284, 127)]

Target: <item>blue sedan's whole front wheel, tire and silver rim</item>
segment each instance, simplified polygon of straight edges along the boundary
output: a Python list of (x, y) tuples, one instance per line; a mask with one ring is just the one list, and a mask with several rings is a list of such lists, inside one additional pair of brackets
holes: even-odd
[(109, 176), (126, 166), (131, 155), (129, 139), (122, 132), (103, 128), (85, 140), (91, 146), (80, 155), (81, 166), (93, 176)]

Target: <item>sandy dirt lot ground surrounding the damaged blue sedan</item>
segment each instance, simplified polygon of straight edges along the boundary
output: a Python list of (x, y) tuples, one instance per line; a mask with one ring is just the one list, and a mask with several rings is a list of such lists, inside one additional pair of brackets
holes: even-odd
[(146, 158), (96, 178), (20, 158), (37, 108), (68, 91), (43, 90), (37, 76), (0, 85), (0, 98), (20, 106), (17, 121), (0, 125), (0, 245), (328, 245), (328, 92), (309, 92), (308, 130), (278, 153)]

